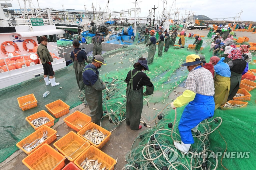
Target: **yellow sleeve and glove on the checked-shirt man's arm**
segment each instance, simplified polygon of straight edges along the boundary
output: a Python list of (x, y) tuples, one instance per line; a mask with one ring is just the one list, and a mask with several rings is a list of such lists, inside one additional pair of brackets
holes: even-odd
[(176, 100), (174, 100), (173, 105), (175, 107), (182, 107), (189, 102), (193, 101), (196, 96), (196, 93), (190, 90), (185, 90), (183, 94), (179, 97), (177, 97)]

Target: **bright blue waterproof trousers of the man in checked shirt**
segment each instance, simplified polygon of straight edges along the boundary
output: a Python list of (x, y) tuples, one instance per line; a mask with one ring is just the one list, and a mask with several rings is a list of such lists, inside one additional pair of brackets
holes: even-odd
[(214, 115), (214, 98), (196, 94), (195, 99), (185, 107), (179, 122), (179, 134), (185, 144), (194, 143), (191, 129), (202, 122), (204, 119)]

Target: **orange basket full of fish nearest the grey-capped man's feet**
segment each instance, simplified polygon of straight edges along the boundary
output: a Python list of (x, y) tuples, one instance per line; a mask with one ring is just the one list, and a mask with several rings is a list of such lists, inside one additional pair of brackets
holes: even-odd
[[(94, 143), (92, 143), (90, 140), (87, 140), (85, 137), (83, 137), (83, 134), (87, 131), (87, 130), (90, 130), (90, 129), (97, 129), (99, 131), (101, 131), (102, 133), (104, 133), (104, 135), (107, 135), (106, 138), (101, 141), (100, 144), (96, 145)], [(83, 127), (79, 132), (77, 132), (77, 134), (79, 136), (81, 136), (83, 139), (87, 140), (88, 142), (90, 142), (91, 145), (95, 146), (96, 148), (98, 149), (101, 149), (110, 139), (110, 135), (111, 135), (111, 132), (110, 131), (107, 131), (106, 129), (100, 127), (99, 125), (96, 125), (95, 123), (91, 122), (89, 123), (87, 126)]]

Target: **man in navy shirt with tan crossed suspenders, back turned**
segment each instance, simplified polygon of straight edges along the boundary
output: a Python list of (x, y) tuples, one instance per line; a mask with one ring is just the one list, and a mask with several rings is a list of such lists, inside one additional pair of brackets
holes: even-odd
[(83, 83), (83, 68), (86, 66), (84, 60), (87, 63), (91, 63), (91, 60), (87, 58), (86, 52), (79, 48), (80, 43), (78, 40), (74, 40), (73, 42), (74, 50), (71, 52), (71, 58), (74, 62), (75, 75), (77, 79), (77, 85), (80, 91), (84, 90)]

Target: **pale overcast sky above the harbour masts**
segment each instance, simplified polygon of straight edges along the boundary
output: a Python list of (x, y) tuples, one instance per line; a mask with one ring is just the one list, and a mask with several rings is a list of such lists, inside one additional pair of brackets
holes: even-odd
[[(19, 8), (18, 0), (9, 1), (12, 3), (12, 8)], [(140, 1), (140, 0), (138, 0)], [(23, 0), (19, 0), (21, 3), (21, 7), (24, 7)], [(103, 10), (107, 4), (107, 0), (76, 0), (76, 1), (65, 1), (65, 0), (38, 0), (40, 8), (53, 8), (53, 9), (62, 9), (62, 4), (64, 5), (64, 9), (76, 9), (76, 10), (83, 10), (84, 5), (86, 5), (87, 10), (92, 11), (92, 3), (93, 5), (99, 10), (99, 6)], [(135, 2), (135, 0), (110, 0), (109, 8), (111, 11), (118, 11), (118, 10), (125, 10), (134, 8), (134, 4), (131, 2)], [(38, 4), (36, 0), (32, 0), (32, 3), (38, 8)], [(173, 3), (173, 0), (165, 0), (165, 7), (167, 11), (170, 10), (170, 7)], [(209, 0), (193, 0), (193, 1), (175, 1), (173, 7), (180, 8), (180, 16), (185, 15), (185, 10), (195, 12), (195, 15), (205, 15), (209, 18), (218, 18), (219, 20), (233, 20), (233, 18), (228, 17), (236, 17), (236, 15), (243, 9), (241, 14), (241, 19), (243, 21), (256, 21), (255, 18), (255, 4), (256, 0), (216, 0), (216, 1), (209, 1)], [(141, 8), (140, 17), (146, 17), (148, 10), (151, 7), (158, 7), (155, 11), (155, 16), (161, 15), (163, 10), (163, 2), (161, 0), (153, 1), (153, 0), (141, 0), (138, 6)], [(32, 7), (34, 7), (32, 5)], [(134, 14), (132, 14), (134, 16)], [(128, 16), (127, 16), (128, 17)], [(227, 18), (225, 18), (227, 17)], [(220, 19), (225, 18), (225, 19)]]

